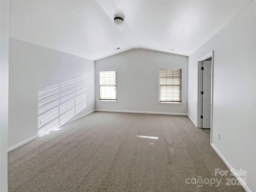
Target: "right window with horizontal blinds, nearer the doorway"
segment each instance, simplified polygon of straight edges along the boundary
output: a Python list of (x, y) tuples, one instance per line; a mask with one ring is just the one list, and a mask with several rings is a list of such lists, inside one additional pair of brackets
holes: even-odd
[(160, 102), (182, 102), (182, 68), (160, 69)]

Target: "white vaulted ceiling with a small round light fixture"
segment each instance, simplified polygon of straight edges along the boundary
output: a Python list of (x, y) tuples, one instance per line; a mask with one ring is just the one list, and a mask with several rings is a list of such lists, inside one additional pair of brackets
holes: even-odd
[[(10, 37), (90, 60), (133, 48), (189, 56), (250, 2), (11, 0)], [(115, 26), (114, 16), (124, 25)]]

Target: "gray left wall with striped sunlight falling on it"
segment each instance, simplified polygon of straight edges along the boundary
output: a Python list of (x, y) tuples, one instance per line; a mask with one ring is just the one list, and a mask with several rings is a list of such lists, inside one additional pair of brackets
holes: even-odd
[[(10, 38), (8, 147), (36, 136), (38, 130), (47, 128), (49, 124), (56, 126), (54, 122), (60, 120), (58, 109), (74, 111), (74, 100), (79, 96), (78, 90), (73, 89), (78, 87), (77, 78), (87, 76), (83, 79), (87, 89), (82, 91), (84, 95), (81, 97), (82, 103), (86, 100), (86, 107), (74, 116), (66, 113), (68, 118), (72, 118), (65, 120), (94, 110), (94, 75), (94, 61)], [(72, 86), (68, 88), (68, 83), (63, 82), (70, 80)], [(52, 101), (51, 96), (54, 96)], [(48, 102), (42, 102), (42, 97)], [(58, 101), (60, 104), (56, 104)], [(44, 110), (41, 114), (40, 109)], [(44, 115), (45, 118), (42, 118)], [(38, 123), (39, 120), (42, 122)]]

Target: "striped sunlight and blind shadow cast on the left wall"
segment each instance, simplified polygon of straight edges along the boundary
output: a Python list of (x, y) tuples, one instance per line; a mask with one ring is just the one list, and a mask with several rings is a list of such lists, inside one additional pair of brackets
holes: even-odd
[(38, 135), (48, 134), (86, 108), (87, 74), (49, 86), (37, 94)]

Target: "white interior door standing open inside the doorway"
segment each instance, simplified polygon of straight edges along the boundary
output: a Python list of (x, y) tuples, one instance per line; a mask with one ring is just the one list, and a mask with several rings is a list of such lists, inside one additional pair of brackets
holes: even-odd
[(211, 125), (211, 86), (212, 86), (212, 61), (203, 62), (203, 105), (202, 128), (210, 128)]

